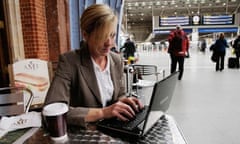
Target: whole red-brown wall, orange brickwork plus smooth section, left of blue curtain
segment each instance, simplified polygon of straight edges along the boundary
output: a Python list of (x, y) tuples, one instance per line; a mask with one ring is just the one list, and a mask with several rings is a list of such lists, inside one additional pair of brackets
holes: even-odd
[(70, 50), (68, 0), (20, 0), (26, 58), (48, 60)]

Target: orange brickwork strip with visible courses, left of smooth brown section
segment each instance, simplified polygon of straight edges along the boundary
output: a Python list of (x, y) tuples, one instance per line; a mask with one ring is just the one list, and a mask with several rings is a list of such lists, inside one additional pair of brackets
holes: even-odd
[(26, 58), (49, 60), (45, 0), (20, 0)]

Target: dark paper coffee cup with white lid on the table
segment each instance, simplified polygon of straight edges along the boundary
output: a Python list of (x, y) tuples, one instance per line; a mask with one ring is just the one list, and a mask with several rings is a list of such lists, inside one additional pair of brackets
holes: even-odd
[(44, 116), (47, 131), (52, 140), (62, 141), (67, 139), (66, 114), (68, 105), (65, 103), (52, 103), (44, 106)]

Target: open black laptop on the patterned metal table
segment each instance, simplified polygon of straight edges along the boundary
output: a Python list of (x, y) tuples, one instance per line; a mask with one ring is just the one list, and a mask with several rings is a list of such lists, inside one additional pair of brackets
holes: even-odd
[(97, 128), (118, 137), (142, 137), (169, 108), (177, 77), (178, 72), (174, 72), (154, 84), (150, 104), (145, 106), (139, 114), (136, 114), (136, 119), (129, 122), (123, 122), (117, 118), (105, 119), (97, 123)]

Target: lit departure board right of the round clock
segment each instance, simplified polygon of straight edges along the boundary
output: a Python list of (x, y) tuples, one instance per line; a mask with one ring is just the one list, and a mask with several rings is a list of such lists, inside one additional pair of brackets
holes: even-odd
[(234, 23), (233, 15), (203, 16), (204, 25), (231, 25)]

